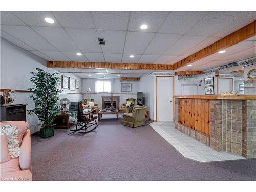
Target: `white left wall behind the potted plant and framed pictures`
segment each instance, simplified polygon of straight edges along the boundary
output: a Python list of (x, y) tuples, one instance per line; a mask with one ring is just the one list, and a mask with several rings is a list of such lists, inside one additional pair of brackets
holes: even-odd
[[(41, 59), (34, 54), (11, 44), (9, 41), (0, 38), (1, 40), (1, 80), (0, 87), (2, 89), (16, 89), (16, 90), (27, 90), (32, 87), (33, 84), (29, 81), (29, 78), (32, 77), (30, 72), (36, 72), (36, 68), (41, 68), (49, 73), (57, 72), (53, 69), (46, 67), (46, 61)], [(81, 78), (72, 75), (66, 74), (67, 76), (72, 76), (81, 83)], [(81, 85), (80, 85), (81, 86)], [(68, 93), (79, 93), (80, 90), (69, 91), (65, 90)], [(1, 93), (2, 94), (2, 93)], [(31, 93), (16, 93), (16, 102), (28, 104), (27, 109), (33, 109), (34, 104), (28, 96)], [(80, 101), (82, 95), (79, 94), (60, 94), (60, 98), (67, 97), (71, 101)], [(27, 114), (27, 122), (29, 123), (29, 128), (31, 133), (34, 133), (39, 130), (36, 126), (38, 123), (37, 117), (29, 116)]]

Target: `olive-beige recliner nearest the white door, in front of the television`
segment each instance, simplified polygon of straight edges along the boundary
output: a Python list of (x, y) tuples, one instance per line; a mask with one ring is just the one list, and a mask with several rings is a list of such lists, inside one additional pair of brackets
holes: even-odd
[(138, 127), (145, 125), (146, 106), (134, 106), (132, 113), (124, 113), (122, 125)]

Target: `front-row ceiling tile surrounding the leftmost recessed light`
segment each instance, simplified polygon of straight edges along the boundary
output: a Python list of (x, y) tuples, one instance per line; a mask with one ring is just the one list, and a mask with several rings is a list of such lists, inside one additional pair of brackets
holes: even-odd
[[(56, 18), (50, 11), (13, 11), (12, 13), (29, 26), (60, 27)], [(47, 23), (45, 21), (45, 18), (47, 17), (52, 18), (54, 23)]]

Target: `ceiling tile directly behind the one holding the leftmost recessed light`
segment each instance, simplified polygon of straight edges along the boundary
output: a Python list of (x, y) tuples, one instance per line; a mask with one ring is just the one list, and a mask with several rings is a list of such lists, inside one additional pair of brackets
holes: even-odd
[(63, 28), (58, 27), (32, 27), (39, 35), (48, 40), (59, 51), (78, 50), (75, 42)]

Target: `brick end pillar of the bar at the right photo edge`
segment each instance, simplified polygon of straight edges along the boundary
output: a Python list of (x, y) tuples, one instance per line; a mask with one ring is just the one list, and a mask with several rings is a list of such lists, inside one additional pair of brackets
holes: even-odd
[(256, 158), (256, 100), (243, 100), (242, 112), (242, 155)]

